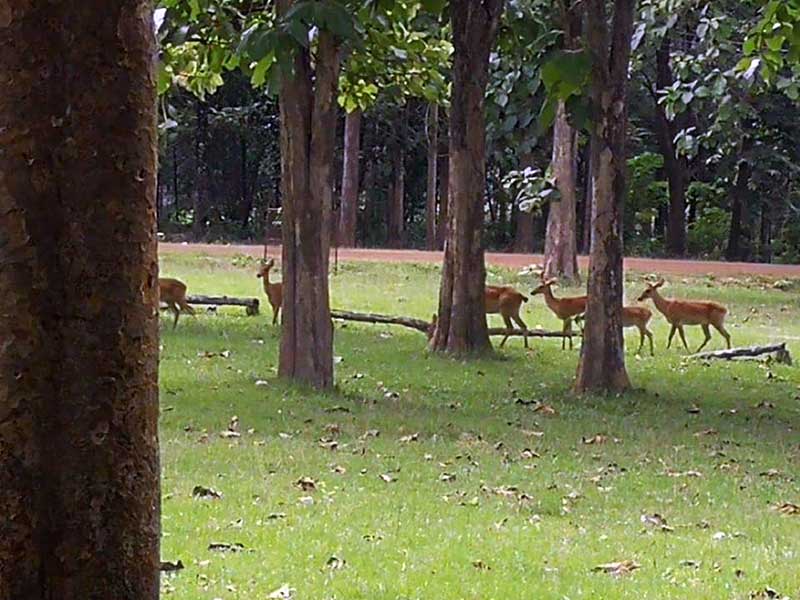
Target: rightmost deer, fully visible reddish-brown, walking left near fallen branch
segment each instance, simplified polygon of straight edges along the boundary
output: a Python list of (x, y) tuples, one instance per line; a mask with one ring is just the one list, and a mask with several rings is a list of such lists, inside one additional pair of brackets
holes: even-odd
[(689, 345), (686, 343), (686, 335), (683, 332), (684, 325), (700, 325), (703, 328), (703, 333), (706, 339), (700, 344), (697, 352), (705, 348), (711, 339), (711, 331), (709, 326), (713, 325), (714, 329), (720, 332), (728, 348), (731, 347), (731, 336), (725, 330), (725, 316), (728, 314), (728, 309), (718, 302), (708, 301), (695, 301), (695, 300), (675, 300), (674, 298), (664, 298), (658, 289), (664, 285), (664, 280), (660, 279), (656, 283), (648, 283), (647, 289), (639, 296), (639, 301), (642, 302), (647, 298), (652, 298), (653, 303), (661, 314), (663, 314), (672, 329), (669, 332), (669, 340), (667, 341), (667, 348), (672, 345), (672, 338), (675, 337), (675, 332), (681, 334), (681, 341), (686, 351), (689, 351)]

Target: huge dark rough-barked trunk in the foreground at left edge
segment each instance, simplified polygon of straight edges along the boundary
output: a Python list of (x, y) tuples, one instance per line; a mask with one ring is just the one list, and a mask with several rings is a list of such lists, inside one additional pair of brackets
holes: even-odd
[(0, 598), (159, 594), (151, 3), (0, 3)]

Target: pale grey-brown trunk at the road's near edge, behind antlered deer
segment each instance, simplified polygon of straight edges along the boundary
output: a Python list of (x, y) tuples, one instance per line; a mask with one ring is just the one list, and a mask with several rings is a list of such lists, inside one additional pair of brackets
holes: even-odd
[[(562, 0), (561, 22), (565, 46), (580, 45), (581, 10)], [(578, 203), (578, 132), (570, 125), (567, 109), (559, 103), (553, 126), (553, 174), (556, 178), (558, 202), (550, 204), (544, 244), (544, 269), (547, 277), (580, 281), (578, 271), (578, 238), (576, 208)]]

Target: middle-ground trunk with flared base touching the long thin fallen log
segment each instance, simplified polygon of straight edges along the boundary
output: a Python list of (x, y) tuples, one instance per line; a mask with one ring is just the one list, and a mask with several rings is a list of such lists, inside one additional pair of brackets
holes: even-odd
[(489, 51), (503, 0), (453, 0), (453, 97), (450, 108), (450, 224), (431, 347), (472, 354), (491, 348), (486, 327), (483, 197), (486, 188), (484, 98)]

